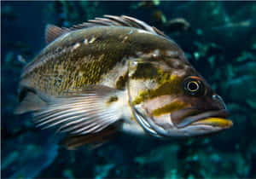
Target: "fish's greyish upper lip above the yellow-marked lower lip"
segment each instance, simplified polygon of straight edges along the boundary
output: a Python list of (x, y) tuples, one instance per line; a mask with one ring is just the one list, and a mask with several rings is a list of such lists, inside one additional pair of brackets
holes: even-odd
[(220, 109), (220, 110), (211, 110), (207, 111), (204, 113), (198, 113), (194, 116), (189, 116), (187, 118), (184, 118), (183, 121), (180, 123), (176, 124), (177, 128), (184, 128), (190, 124), (194, 124), (195, 122), (200, 121), (201, 119), (206, 119), (206, 118), (228, 118), (230, 116), (230, 113), (227, 109)]

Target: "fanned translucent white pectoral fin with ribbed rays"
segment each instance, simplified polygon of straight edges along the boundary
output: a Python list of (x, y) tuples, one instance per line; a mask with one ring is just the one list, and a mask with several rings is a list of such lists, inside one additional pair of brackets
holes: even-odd
[(44, 129), (57, 126), (59, 132), (71, 135), (97, 133), (120, 120), (122, 113), (108, 102), (118, 93), (102, 86), (70, 90), (34, 113), (34, 121)]

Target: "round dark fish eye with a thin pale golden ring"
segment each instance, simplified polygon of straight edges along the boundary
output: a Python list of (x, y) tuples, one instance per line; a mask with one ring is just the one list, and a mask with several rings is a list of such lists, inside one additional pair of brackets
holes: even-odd
[(202, 83), (198, 77), (188, 77), (185, 78), (183, 87), (190, 95), (198, 95), (202, 90)]

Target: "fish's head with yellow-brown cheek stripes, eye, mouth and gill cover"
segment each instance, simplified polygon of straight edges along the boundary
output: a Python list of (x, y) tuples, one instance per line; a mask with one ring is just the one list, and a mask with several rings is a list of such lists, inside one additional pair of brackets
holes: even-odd
[(229, 129), (223, 99), (184, 55), (132, 61), (129, 96), (137, 122), (154, 136), (201, 136)]

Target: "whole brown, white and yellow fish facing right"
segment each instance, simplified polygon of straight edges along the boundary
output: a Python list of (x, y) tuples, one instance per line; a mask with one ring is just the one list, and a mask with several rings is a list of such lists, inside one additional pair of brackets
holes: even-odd
[(48, 25), (45, 41), (21, 72), (15, 113), (66, 134), (68, 149), (119, 132), (169, 139), (232, 126), (223, 99), (183, 50), (142, 20), (104, 15), (70, 28)]

